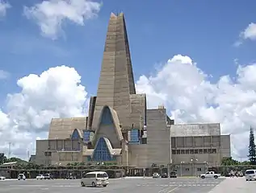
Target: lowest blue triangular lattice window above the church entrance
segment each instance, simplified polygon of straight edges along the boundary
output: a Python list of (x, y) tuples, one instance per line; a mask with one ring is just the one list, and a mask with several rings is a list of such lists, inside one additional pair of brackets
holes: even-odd
[(96, 162), (109, 162), (115, 160), (115, 157), (111, 157), (111, 154), (107, 148), (107, 144), (104, 138), (99, 138), (97, 146), (94, 149), (92, 161)]

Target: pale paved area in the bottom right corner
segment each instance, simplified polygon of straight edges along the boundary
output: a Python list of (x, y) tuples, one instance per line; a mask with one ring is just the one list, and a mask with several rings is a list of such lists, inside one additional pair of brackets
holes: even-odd
[(246, 178), (226, 178), (208, 193), (254, 193), (255, 190), (256, 181), (246, 182)]

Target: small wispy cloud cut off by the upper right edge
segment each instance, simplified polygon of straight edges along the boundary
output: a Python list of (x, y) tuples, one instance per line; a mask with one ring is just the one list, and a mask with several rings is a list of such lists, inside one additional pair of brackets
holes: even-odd
[(239, 35), (240, 39), (234, 44), (236, 47), (240, 46), (243, 40), (256, 40), (256, 23), (250, 23), (244, 31)]

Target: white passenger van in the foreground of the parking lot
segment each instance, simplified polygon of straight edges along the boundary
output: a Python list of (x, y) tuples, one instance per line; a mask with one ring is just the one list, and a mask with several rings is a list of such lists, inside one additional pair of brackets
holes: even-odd
[(105, 171), (93, 171), (82, 176), (81, 186), (107, 187), (108, 175)]

